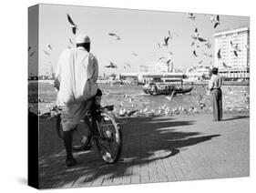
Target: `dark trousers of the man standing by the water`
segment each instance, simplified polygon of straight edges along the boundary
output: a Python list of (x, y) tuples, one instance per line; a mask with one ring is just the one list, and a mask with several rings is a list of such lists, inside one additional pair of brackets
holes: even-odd
[(213, 118), (220, 121), (222, 119), (222, 92), (221, 89), (212, 89), (211, 94), (211, 103), (213, 110)]

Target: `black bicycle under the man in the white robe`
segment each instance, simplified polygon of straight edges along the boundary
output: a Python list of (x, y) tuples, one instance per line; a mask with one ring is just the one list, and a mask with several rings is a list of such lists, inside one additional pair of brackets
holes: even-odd
[[(113, 108), (114, 106), (97, 107), (87, 111), (81, 120), (85, 127), (76, 128), (73, 134), (73, 150), (87, 150), (94, 141), (105, 162), (112, 164), (118, 161), (122, 150), (122, 132), (115, 118), (109, 113)], [(56, 117), (56, 134), (63, 139), (60, 113)]]

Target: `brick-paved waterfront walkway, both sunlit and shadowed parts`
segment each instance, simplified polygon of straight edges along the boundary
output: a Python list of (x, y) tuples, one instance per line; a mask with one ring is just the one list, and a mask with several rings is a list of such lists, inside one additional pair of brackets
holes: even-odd
[(250, 175), (248, 114), (139, 117), (118, 120), (123, 131), (120, 160), (108, 165), (94, 147), (75, 153), (65, 166), (65, 149), (52, 119), (40, 121), (40, 188), (71, 188)]

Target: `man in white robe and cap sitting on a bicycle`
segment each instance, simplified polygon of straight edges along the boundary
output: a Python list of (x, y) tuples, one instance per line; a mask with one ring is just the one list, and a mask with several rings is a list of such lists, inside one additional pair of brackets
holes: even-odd
[(77, 36), (77, 47), (61, 53), (56, 66), (56, 105), (61, 109), (67, 167), (76, 165), (72, 153), (73, 131), (83, 119), (97, 94), (97, 58), (90, 51), (90, 39)]

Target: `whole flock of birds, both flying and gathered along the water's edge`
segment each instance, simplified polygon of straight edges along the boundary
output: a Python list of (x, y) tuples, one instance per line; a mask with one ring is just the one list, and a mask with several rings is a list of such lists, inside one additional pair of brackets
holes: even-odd
[[(192, 21), (195, 21), (196, 20), (196, 15), (193, 14), (193, 13), (189, 13), (188, 14), (188, 18), (191, 19)], [(71, 18), (70, 15), (67, 14), (67, 22), (70, 26), (70, 29), (71, 29), (71, 32), (74, 36), (76, 36), (77, 34), (77, 31), (78, 31), (78, 25), (73, 21), (73, 19)], [(220, 25), (220, 15), (211, 15), (210, 16), (210, 22), (211, 24), (213, 25), (213, 28), (217, 28), (218, 25)], [(169, 45), (171, 44), (171, 41), (174, 40), (175, 37), (179, 36), (178, 34), (176, 34), (175, 32), (171, 32), (170, 30), (168, 30), (168, 36), (163, 36), (162, 37), (162, 41), (160, 43), (157, 43), (159, 49), (162, 49), (162, 48), (168, 48), (166, 49), (167, 50), (167, 56), (159, 56), (159, 60), (160, 61), (165, 61), (165, 64), (166, 65), (170, 65), (170, 64), (173, 64), (173, 60), (172, 60), (172, 56), (173, 56), (173, 52), (169, 50)], [(108, 33), (108, 36), (110, 36), (111, 38), (113, 38), (115, 41), (121, 41), (122, 38), (121, 36), (118, 36), (118, 34), (116, 33)], [(200, 47), (206, 47), (207, 49), (210, 49), (211, 48), (211, 43), (210, 43), (210, 38), (205, 38), (203, 36), (200, 35), (200, 30), (198, 27), (196, 27), (194, 29), (194, 34), (191, 35), (191, 39), (192, 39), (192, 42), (191, 42), (191, 46), (194, 47), (193, 50), (192, 50), (192, 54), (193, 56), (195, 57), (199, 57), (199, 48)], [(72, 38), (71, 37), (68, 37), (68, 42), (69, 42), (69, 46), (67, 46), (68, 48), (71, 48), (71, 46), (75, 46), (75, 43), (72, 41)], [(239, 47), (238, 44), (234, 44), (232, 41), (230, 41), (230, 46), (232, 48), (232, 52), (234, 54), (234, 56), (238, 56), (239, 53), (241, 52), (241, 47)], [(46, 46), (45, 49), (43, 49), (43, 52), (45, 53), (46, 56), (51, 56), (52, 54), (52, 50), (53, 50), (53, 47), (48, 44)], [(36, 51), (32, 50), (32, 47), (29, 46), (28, 47), (28, 56), (29, 57), (32, 57), (36, 54)], [(132, 56), (138, 56), (137, 53), (133, 52), (131, 53)], [(209, 54), (208, 51), (203, 51), (203, 55), (204, 56), (208, 56), (208, 57), (213, 57), (211, 54)], [(218, 50), (218, 53), (217, 53), (217, 58), (218, 59), (221, 59), (221, 49), (219, 48)], [(50, 63), (50, 61), (49, 61)], [(202, 64), (203, 63), (203, 60), (200, 60), (198, 62), (198, 64)], [(131, 65), (127, 62), (124, 62), (124, 68), (127, 69), (127, 68), (131, 68)], [(230, 66), (227, 66), (224, 62), (222, 62), (223, 66), (224, 67), (230, 67)], [(118, 66), (115, 65), (112, 61), (109, 61), (109, 65), (108, 66), (105, 66), (106, 68), (114, 68), (114, 69), (117, 69)], [(108, 91), (104, 91), (104, 93), (106, 95), (110, 95), (110, 93)], [(171, 95), (169, 96), (165, 96), (165, 98), (169, 101), (169, 103), (171, 103), (172, 101), (172, 98), (173, 98), (173, 95), (174, 95), (174, 92), (172, 92)], [(134, 100), (135, 100), (135, 97), (136, 96), (129, 96), (129, 95), (124, 95), (124, 98), (127, 98), (129, 103), (132, 104), (132, 107), (134, 106)], [(36, 101), (37, 103), (43, 103), (45, 102), (44, 100), (42, 99), (38, 99)], [(184, 107), (168, 107), (166, 105), (163, 105), (162, 107), (159, 107), (159, 109), (148, 109), (148, 107), (146, 105), (144, 105), (142, 108), (139, 108), (137, 110), (127, 110), (125, 107), (123, 107), (124, 105), (121, 103), (120, 104), (120, 109), (119, 109), (119, 112), (116, 112), (116, 115), (118, 117), (132, 117), (132, 116), (138, 116), (138, 115), (146, 115), (146, 116), (156, 116), (156, 115), (176, 115), (176, 114), (179, 114), (179, 113), (197, 113), (199, 112), (200, 109), (203, 109), (206, 107), (206, 104), (205, 104), (205, 98), (201, 95), (199, 95), (199, 98), (198, 98), (198, 107), (189, 107), (189, 109), (186, 109)], [(55, 112), (56, 108), (55, 107), (52, 107), (52, 106), (48, 106), (49, 108), (49, 113), (50, 115), (52, 115), (52, 112)]]

